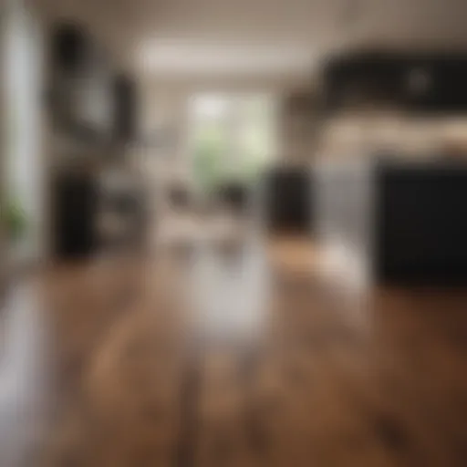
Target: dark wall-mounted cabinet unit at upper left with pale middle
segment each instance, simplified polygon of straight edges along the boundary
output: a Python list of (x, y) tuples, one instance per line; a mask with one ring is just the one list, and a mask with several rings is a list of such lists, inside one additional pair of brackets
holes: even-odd
[(112, 69), (106, 50), (73, 22), (53, 27), (50, 107), (58, 133), (91, 144), (136, 138), (136, 86)]

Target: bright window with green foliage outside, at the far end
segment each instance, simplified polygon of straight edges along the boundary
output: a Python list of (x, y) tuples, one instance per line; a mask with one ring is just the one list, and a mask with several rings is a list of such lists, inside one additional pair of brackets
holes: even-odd
[(270, 95), (202, 94), (192, 99), (193, 176), (204, 192), (254, 182), (275, 155)]

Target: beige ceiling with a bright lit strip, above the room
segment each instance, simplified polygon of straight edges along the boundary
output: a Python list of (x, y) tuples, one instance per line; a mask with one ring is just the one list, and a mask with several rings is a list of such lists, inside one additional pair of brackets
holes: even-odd
[(295, 73), (336, 47), (467, 46), (465, 0), (35, 0), (159, 75)]

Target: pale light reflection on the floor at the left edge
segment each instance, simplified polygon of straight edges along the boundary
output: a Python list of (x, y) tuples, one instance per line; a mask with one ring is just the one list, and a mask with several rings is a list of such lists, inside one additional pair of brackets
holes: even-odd
[(51, 389), (46, 316), (34, 285), (13, 285), (6, 297), (0, 359), (2, 467), (24, 465), (47, 423)]

